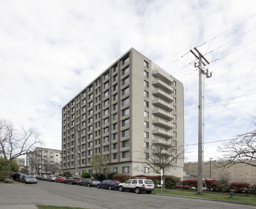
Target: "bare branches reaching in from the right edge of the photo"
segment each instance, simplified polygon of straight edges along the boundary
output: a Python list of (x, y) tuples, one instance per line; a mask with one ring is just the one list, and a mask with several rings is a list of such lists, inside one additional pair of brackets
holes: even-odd
[(237, 135), (235, 139), (223, 143), (217, 151), (223, 153), (220, 167), (230, 167), (233, 164), (244, 163), (252, 166), (256, 160), (256, 122), (252, 116), (252, 131)]

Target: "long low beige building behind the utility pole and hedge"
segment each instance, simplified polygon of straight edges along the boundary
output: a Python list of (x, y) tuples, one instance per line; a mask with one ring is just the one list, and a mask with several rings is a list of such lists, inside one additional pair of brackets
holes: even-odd
[[(245, 162), (248, 160), (245, 160)], [(211, 178), (215, 180), (228, 180), (228, 182), (248, 182), (250, 184), (256, 183), (256, 160), (250, 162), (252, 165), (245, 163), (233, 164), (230, 167), (220, 168), (223, 162), (218, 160), (211, 160), (204, 162), (203, 175), (205, 178)], [(184, 164), (184, 180), (190, 178), (189, 176), (197, 176), (197, 162), (188, 162)]]

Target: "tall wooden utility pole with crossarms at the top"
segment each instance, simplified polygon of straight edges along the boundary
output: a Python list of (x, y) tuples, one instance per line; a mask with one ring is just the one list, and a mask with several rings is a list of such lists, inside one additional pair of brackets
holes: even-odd
[(202, 58), (204, 59), (204, 61), (207, 64), (210, 64), (210, 62), (208, 62), (206, 60), (206, 58), (204, 58), (204, 56), (198, 51), (198, 49), (196, 47), (194, 47), (195, 51), (197, 51), (198, 56), (192, 51), (190, 50), (190, 52), (197, 58), (198, 60), (198, 65), (195, 63), (195, 67), (198, 67), (199, 69), (199, 100), (198, 100), (198, 177), (197, 177), (197, 193), (198, 194), (202, 194), (203, 191), (203, 158), (202, 158), (202, 154), (203, 154), (203, 142), (202, 142), (202, 75), (206, 75), (206, 78), (210, 78), (211, 77), (211, 73), (209, 74), (208, 69), (205, 70), (202, 67), (202, 64), (204, 66), (206, 66), (206, 64), (204, 62), (202, 62)]

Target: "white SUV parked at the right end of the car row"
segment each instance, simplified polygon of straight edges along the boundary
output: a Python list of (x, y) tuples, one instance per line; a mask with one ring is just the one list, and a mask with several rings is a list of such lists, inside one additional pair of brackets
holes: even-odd
[(155, 185), (152, 180), (147, 179), (145, 177), (141, 178), (135, 178), (135, 179), (130, 179), (125, 183), (121, 183), (118, 185), (119, 191), (124, 191), (124, 190), (130, 190), (130, 191), (135, 191), (136, 194), (141, 193), (142, 191), (145, 191), (146, 193), (150, 194), (152, 191), (155, 190)]

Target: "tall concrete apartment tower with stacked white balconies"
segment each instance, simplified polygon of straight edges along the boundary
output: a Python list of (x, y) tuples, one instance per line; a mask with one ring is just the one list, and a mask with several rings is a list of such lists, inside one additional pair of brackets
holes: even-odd
[[(143, 162), (152, 145), (184, 146), (183, 111), (183, 84), (131, 48), (63, 107), (63, 171), (97, 173), (98, 153), (109, 173), (159, 175)], [(173, 165), (165, 174), (182, 177), (184, 159)]]

